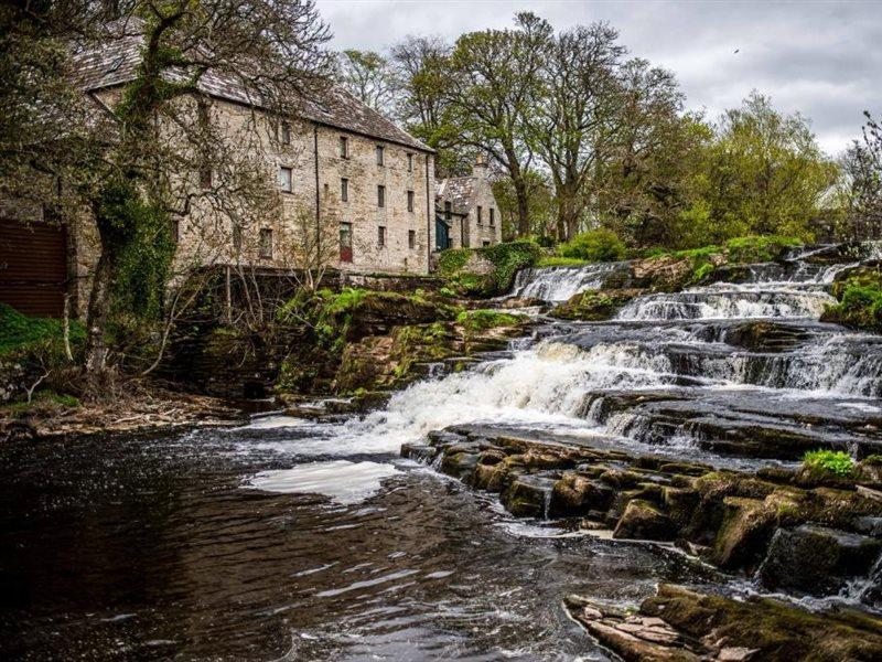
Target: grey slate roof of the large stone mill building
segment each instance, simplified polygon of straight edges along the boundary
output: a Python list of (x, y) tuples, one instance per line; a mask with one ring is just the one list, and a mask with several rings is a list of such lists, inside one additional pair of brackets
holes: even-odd
[[(114, 87), (135, 78), (140, 63), (143, 36), (138, 31), (138, 24), (132, 21), (126, 23), (125, 29), (119, 32), (118, 38), (109, 40), (100, 49), (74, 53), (77, 83), (86, 92)], [(259, 93), (249, 89), (233, 75), (207, 72), (201, 78), (198, 87), (211, 96), (248, 106), (261, 106)], [(397, 127), (388, 117), (366, 106), (338, 86), (323, 85), (321, 88), (316, 86), (313, 92), (313, 96), (303, 99), (303, 105), (298, 110), (299, 116), (316, 124), (379, 138), (420, 151), (433, 151)]]

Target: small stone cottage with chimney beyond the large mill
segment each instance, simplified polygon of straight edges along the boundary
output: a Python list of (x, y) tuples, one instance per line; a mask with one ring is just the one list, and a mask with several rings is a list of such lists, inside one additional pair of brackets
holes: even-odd
[(499, 243), (499, 205), (493, 196), (483, 156), (477, 158), (470, 177), (439, 180), (434, 197), (437, 250)]

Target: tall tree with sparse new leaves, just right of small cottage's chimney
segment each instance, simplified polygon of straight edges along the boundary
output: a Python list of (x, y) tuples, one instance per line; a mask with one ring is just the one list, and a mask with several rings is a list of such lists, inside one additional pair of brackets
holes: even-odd
[(472, 32), (456, 40), (448, 121), (458, 127), (464, 145), (488, 153), (510, 178), (518, 234), (526, 236), (534, 150), (525, 125), (534, 111), (551, 26), (528, 12), (517, 14), (515, 23), (515, 30)]

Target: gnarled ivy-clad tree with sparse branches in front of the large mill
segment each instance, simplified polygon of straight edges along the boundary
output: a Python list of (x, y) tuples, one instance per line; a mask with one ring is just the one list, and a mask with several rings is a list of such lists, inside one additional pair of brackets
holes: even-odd
[[(147, 245), (144, 234), (159, 237), (182, 211), (182, 163), (204, 160), (219, 145), (200, 98), (220, 86), (252, 109), (290, 116), (329, 64), (327, 30), (311, 0), (122, 0), (101, 18), (110, 20), (89, 24), (77, 56), (88, 62), (96, 51), (133, 43), (139, 60), (119, 99), (105, 102), (115, 130), (103, 132), (89, 188), (80, 188), (100, 238), (87, 314), (89, 373), (107, 366), (106, 330), (123, 256)], [(227, 189), (227, 200), (247, 202), (245, 189)]]

